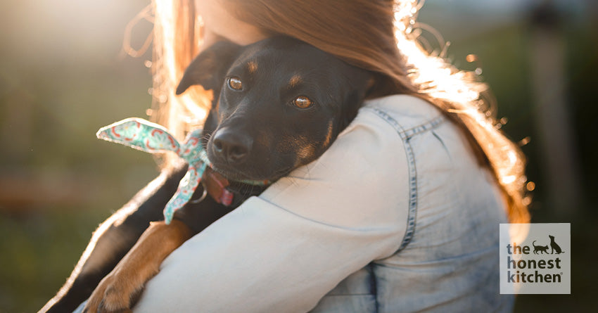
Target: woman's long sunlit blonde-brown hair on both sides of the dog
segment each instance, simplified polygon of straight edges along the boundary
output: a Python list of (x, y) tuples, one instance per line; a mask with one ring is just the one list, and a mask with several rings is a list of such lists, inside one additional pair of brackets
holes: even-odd
[[(495, 175), (511, 222), (529, 222), (525, 157), (499, 129), (485, 98), (488, 87), (419, 41), (415, 0), (222, 0), (239, 20), (271, 34), (303, 40), (376, 74), (370, 97), (412, 94), (443, 110), (462, 128), (478, 161)], [(151, 118), (182, 137), (201, 124), (212, 94), (174, 89), (198, 53), (202, 22), (194, 0), (153, 0), (153, 107)], [(170, 160), (165, 159), (165, 164)]]

